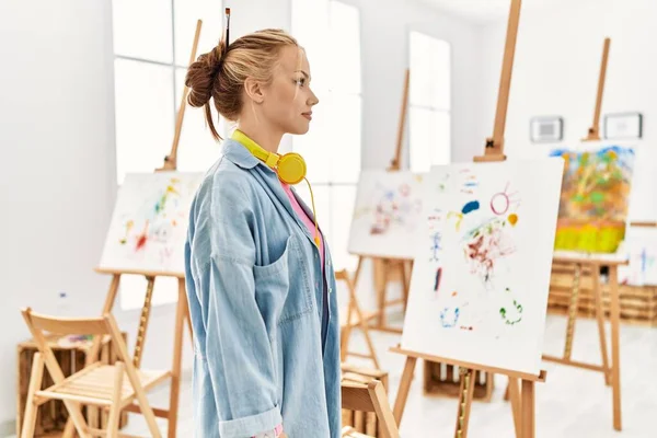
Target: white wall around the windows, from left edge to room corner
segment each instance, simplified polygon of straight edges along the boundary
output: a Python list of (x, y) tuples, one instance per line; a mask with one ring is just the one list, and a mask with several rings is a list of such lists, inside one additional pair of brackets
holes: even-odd
[[(364, 166), (384, 168), (394, 152), (410, 30), (452, 44), (452, 155), (470, 159), (479, 143), (472, 128), (480, 94), (475, 28), (412, 1), (347, 2), (360, 8), (362, 25)], [(290, 28), (290, 0), (224, 5), (233, 9), (233, 38), (261, 27)], [(15, 345), (28, 337), (19, 309), (96, 314), (110, 283), (93, 267), (116, 194), (111, 0), (1, 2), (0, 59), (2, 436), (15, 418)], [(68, 293), (65, 302), (59, 291)], [(145, 367), (170, 364), (174, 311), (153, 309)], [(131, 348), (139, 312), (120, 311), (117, 303), (115, 314)]]

